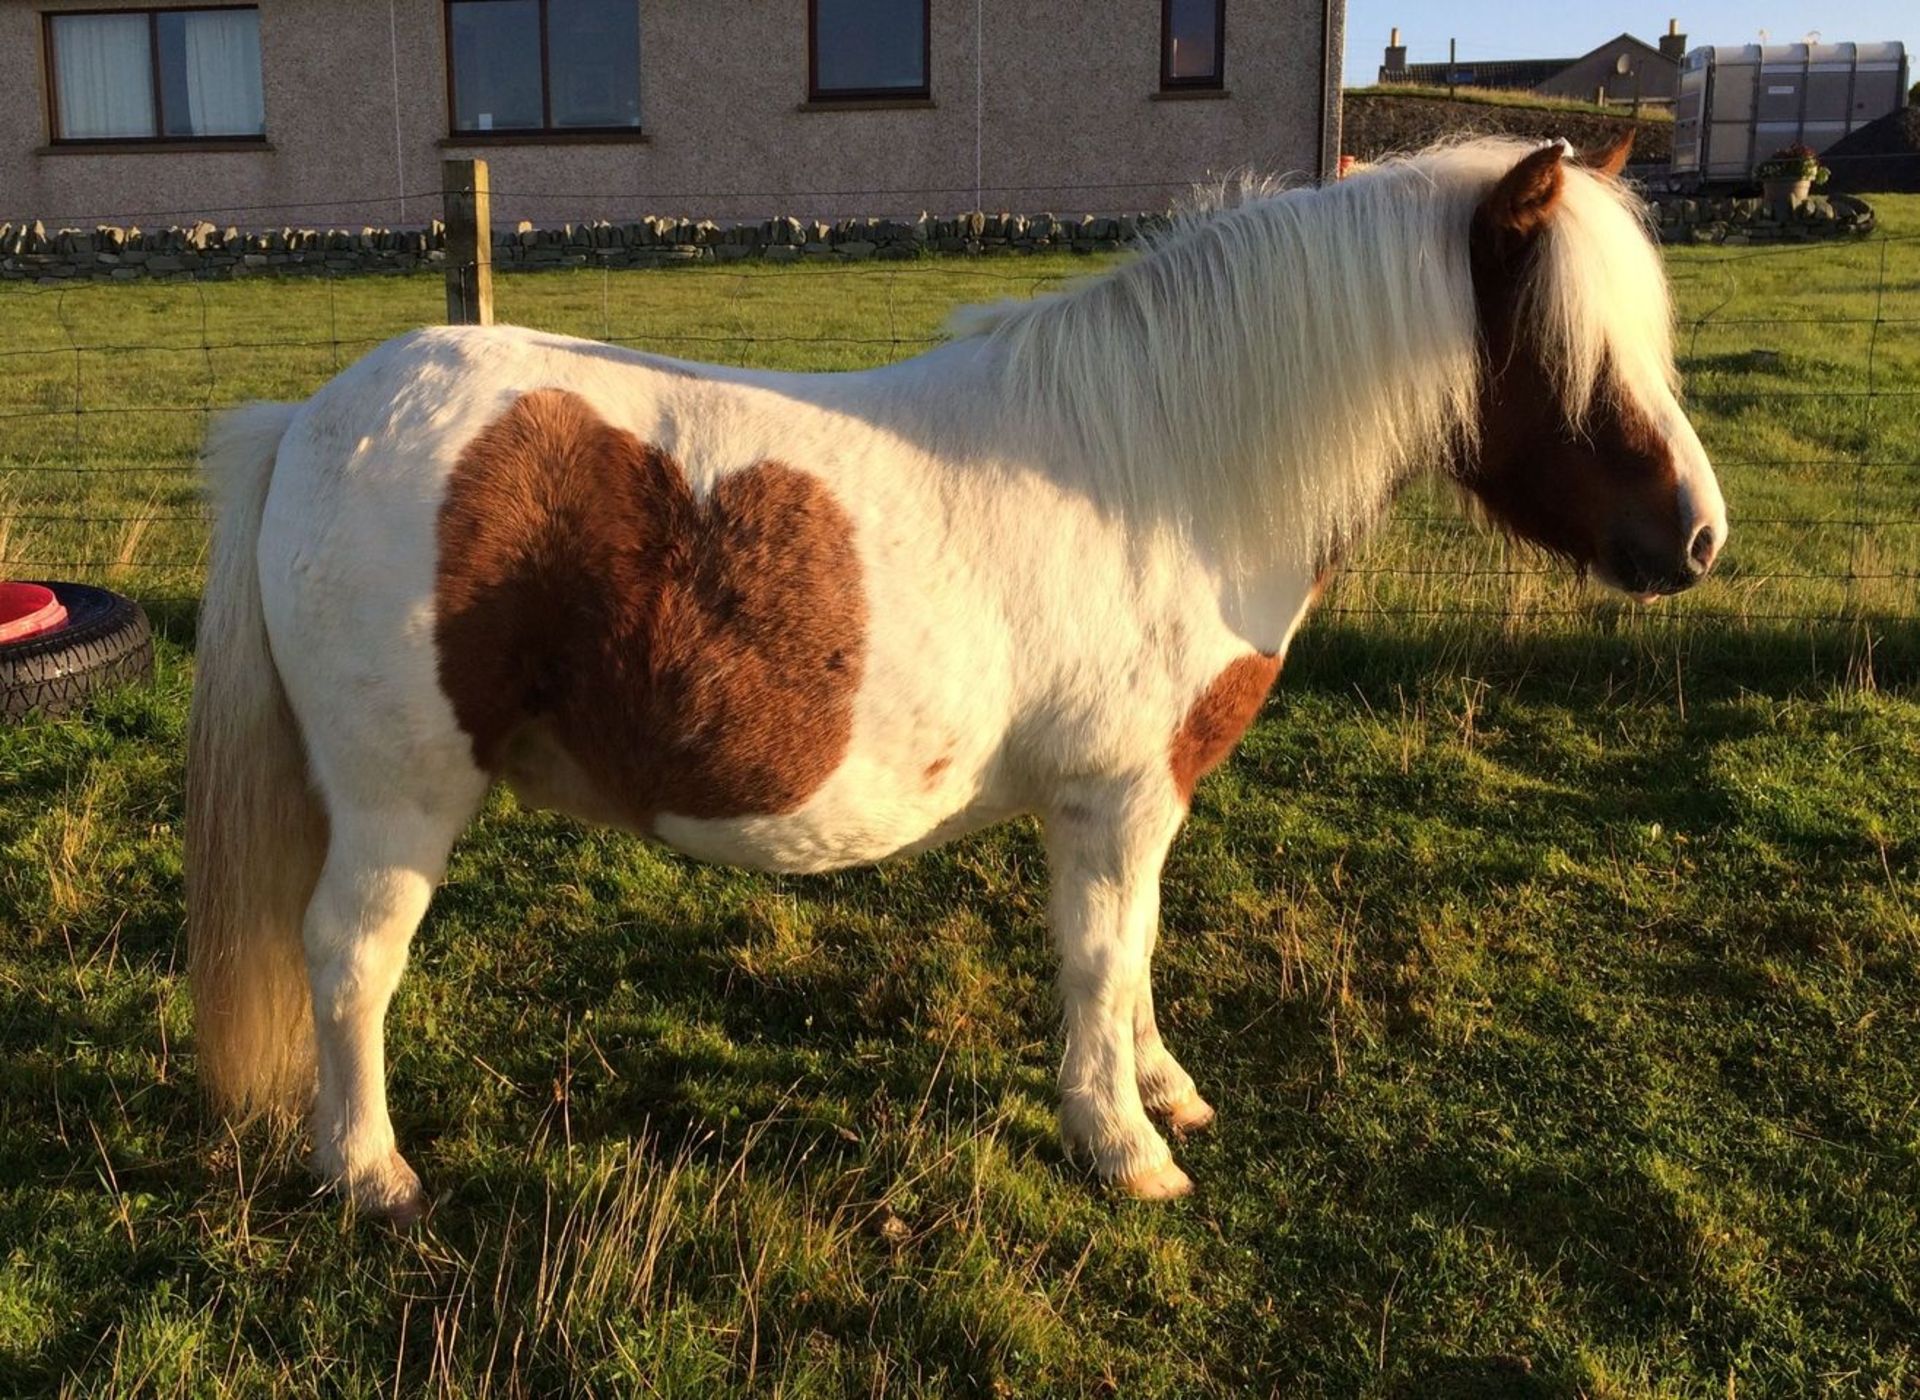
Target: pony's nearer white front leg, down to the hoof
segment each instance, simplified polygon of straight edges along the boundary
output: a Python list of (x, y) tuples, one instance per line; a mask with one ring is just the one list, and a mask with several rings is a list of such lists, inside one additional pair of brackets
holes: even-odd
[(1068, 1039), (1062, 1135), (1102, 1179), (1142, 1198), (1192, 1189), (1146, 1116), (1135, 1058), (1160, 868), (1179, 822), (1171, 795), (1150, 782), (1077, 785), (1046, 820), (1048, 924)]

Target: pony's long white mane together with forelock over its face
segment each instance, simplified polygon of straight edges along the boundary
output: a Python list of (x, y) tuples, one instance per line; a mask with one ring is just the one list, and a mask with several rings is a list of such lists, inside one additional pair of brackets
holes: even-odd
[[(1206, 532), (1238, 572), (1340, 549), (1409, 472), (1476, 434), (1473, 211), (1526, 152), (1473, 140), (1321, 188), (1252, 186), (1121, 269), (970, 307), (1029, 424), (1083, 453), (1112, 509)], [(1672, 392), (1667, 277), (1634, 196), (1567, 165), (1521, 292), (1580, 421), (1609, 380)]]

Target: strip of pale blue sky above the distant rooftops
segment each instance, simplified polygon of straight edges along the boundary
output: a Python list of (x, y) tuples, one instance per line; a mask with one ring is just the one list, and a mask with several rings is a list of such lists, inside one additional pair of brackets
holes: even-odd
[[(1536, 4), (1528, 0), (1348, 0), (1346, 81), (1373, 83), (1380, 67), (1386, 31), (1400, 25), (1407, 60), (1446, 60), (1448, 35), (1459, 38), (1467, 58), (1572, 58), (1613, 38), (1622, 29), (1649, 44), (1667, 33), (1667, 19), (1680, 21), (1688, 48), (1699, 44), (1749, 44), (1768, 31), (1788, 44), (1818, 29), (1826, 42), (1903, 38), (1908, 52), (1920, 42), (1920, 0), (1853, 0), (1849, 4), (1774, 4), (1774, 0), (1667, 0), (1667, 4)], [(1920, 79), (1920, 61), (1914, 63)]]

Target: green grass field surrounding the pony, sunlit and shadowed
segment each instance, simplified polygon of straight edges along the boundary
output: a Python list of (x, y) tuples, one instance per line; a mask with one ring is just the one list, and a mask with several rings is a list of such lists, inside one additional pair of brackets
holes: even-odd
[[(1302, 636), (1167, 872), (1164, 1024), (1221, 1110), (1173, 1206), (1062, 1162), (1029, 824), (768, 880), (499, 799), (392, 1018), (428, 1227), (209, 1127), (200, 409), (440, 286), (0, 290), (0, 567), (165, 630), (152, 689), (0, 728), (0, 1394), (1914, 1394), (1920, 198), (1876, 205), (1885, 242), (1670, 255), (1711, 586), (1644, 615), (1417, 490)], [(833, 369), (1081, 271), (499, 311)]]

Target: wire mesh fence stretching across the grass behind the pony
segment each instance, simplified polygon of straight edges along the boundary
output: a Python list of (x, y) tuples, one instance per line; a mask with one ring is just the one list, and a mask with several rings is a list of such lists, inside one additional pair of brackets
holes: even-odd
[[(499, 321), (684, 359), (839, 371), (927, 350), (956, 305), (1044, 294), (1098, 265), (1043, 253), (499, 271), (495, 305)], [(1657, 620), (1920, 620), (1920, 238), (1674, 248), (1668, 269), (1688, 411), (1734, 540), (1713, 584)], [(438, 273), (0, 288), (0, 574), (194, 599), (207, 419), (305, 398), (444, 315)], [(1597, 588), (1482, 528), (1444, 482), (1404, 494), (1325, 609), (1628, 624)]]

